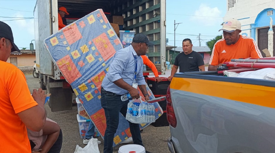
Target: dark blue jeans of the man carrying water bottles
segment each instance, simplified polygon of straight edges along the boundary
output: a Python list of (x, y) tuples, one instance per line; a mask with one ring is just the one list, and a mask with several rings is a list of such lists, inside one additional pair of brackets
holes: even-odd
[[(101, 89), (101, 106), (105, 111), (107, 124), (104, 135), (104, 153), (113, 153), (114, 134), (118, 127), (119, 113), (126, 117), (129, 100), (121, 101), (120, 97), (121, 95)], [(139, 124), (129, 122), (129, 127), (134, 144), (143, 146)]]

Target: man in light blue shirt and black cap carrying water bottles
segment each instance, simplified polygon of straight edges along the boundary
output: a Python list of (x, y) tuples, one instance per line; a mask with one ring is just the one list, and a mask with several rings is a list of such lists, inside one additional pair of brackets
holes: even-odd
[[(140, 55), (145, 55), (149, 42), (144, 34), (137, 34), (132, 44), (118, 50), (110, 64), (109, 71), (101, 85), (101, 106), (106, 116), (106, 131), (104, 135), (104, 153), (113, 152), (114, 134), (119, 123), (119, 113), (126, 117), (129, 99), (121, 100), (121, 96), (129, 93), (132, 98), (140, 98), (137, 86), (140, 88), (145, 100), (149, 100), (146, 82), (143, 77), (143, 62)], [(136, 87), (136, 88), (135, 88)], [(143, 146), (139, 124), (129, 122), (130, 132), (134, 144)], [(146, 153), (149, 153), (146, 151)]]

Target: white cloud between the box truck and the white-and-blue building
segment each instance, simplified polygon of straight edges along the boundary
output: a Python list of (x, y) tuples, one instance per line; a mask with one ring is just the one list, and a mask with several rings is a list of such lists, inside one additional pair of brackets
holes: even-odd
[[(194, 13), (195, 16), (191, 17), (191, 20), (198, 22), (199, 24), (203, 24), (205, 26), (214, 26), (217, 24), (221, 24), (222, 18), (218, 18), (221, 15), (221, 11), (218, 7), (209, 7), (207, 4), (200, 4), (198, 10)], [(204, 17), (204, 16), (212, 16), (212, 17)], [(218, 16), (218, 17), (213, 17)]]

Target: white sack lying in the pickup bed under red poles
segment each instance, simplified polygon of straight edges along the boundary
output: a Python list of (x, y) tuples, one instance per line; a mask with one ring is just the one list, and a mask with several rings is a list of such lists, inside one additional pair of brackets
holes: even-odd
[(263, 68), (256, 71), (241, 72), (239, 78), (266, 79), (275, 81), (275, 68)]

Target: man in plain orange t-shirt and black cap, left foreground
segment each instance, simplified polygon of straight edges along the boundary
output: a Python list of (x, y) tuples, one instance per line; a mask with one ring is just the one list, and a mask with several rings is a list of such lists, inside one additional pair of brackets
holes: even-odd
[(13, 51), (20, 52), (10, 26), (0, 21), (0, 152), (31, 153), (26, 127), (43, 128), (46, 95), (41, 88), (31, 95), (22, 71), (6, 62)]

